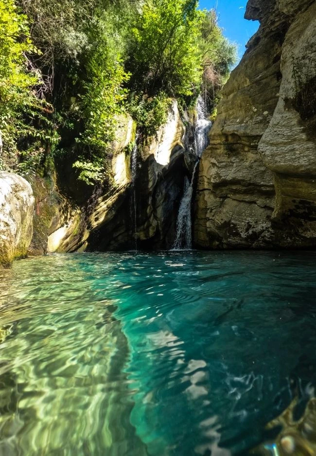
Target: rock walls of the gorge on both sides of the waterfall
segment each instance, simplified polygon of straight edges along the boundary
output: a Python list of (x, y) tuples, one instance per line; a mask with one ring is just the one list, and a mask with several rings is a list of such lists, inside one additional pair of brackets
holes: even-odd
[[(248, 2), (260, 28), (223, 89), (205, 151), (201, 106), (188, 116), (174, 101), (151, 137), (119, 118), (105, 192), (87, 193), (65, 161), (49, 183), (32, 178), (30, 252), (315, 246), (315, 7)], [(193, 244), (181, 240), (190, 231)]]

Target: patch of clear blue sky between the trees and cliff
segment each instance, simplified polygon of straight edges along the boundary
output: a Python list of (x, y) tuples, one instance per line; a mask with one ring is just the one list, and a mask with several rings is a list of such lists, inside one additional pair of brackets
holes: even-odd
[(246, 42), (259, 28), (258, 21), (244, 19), (246, 3), (247, 0), (200, 0), (201, 9), (216, 9), (224, 35), (238, 44), (239, 58), (245, 52)]

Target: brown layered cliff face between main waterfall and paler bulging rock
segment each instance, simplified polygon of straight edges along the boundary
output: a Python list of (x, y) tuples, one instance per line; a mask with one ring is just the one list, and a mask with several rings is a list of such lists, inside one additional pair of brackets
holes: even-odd
[(273, 174), (262, 163), (258, 143), (278, 101), (280, 55), (273, 36), (260, 39), (224, 88), (211, 143), (200, 162), (197, 246), (260, 247), (270, 242)]

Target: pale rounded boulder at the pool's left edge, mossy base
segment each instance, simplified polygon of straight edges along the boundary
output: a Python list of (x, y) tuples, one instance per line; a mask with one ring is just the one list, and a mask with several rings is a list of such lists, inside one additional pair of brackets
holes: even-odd
[(26, 256), (33, 230), (34, 196), (20, 176), (0, 171), (0, 267)]

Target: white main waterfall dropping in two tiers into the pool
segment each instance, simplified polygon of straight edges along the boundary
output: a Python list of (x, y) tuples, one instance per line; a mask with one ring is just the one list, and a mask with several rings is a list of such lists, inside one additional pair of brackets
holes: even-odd
[(187, 145), (188, 148), (194, 150), (197, 161), (194, 165), (191, 182), (186, 177), (184, 183), (184, 194), (180, 203), (178, 218), (176, 221), (176, 240), (173, 245), (173, 250), (187, 250), (192, 247), (192, 217), (191, 217), (191, 202), (193, 195), (194, 177), (199, 159), (202, 152), (209, 145), (209, 131), (211, 129), (211, 121), (207, 119), (207, 109), (205, 100), (199, 96), (196, 105), (197, 117), (194, 130), (193, 147)]

